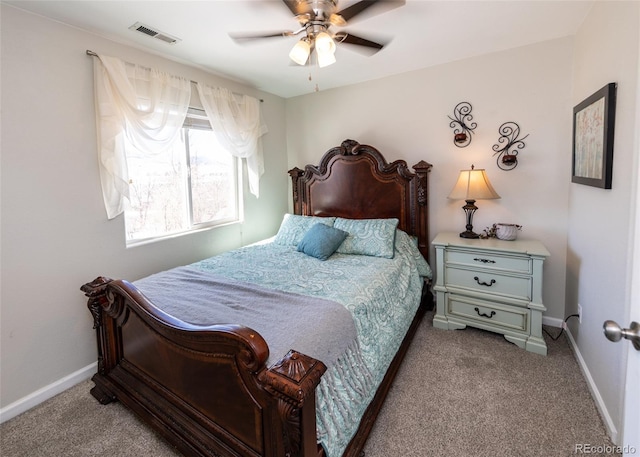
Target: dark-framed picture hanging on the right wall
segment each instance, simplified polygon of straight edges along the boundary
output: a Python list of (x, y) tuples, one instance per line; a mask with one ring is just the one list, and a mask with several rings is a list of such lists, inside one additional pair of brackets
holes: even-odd
[(611, 189), (616, 83), (609, 83), (573, 108), (571, 182)]

